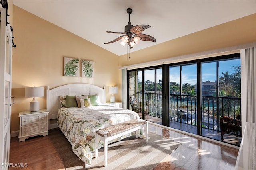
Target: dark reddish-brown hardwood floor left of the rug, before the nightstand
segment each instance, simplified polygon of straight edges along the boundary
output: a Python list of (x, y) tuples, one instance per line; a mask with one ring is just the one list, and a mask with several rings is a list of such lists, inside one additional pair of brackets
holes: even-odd
[(22, 142), (19, 142), (18, 137), (12, 137), (9, 162), (12, 165), (9, 170), (65, 169), (48, 136), (32, 137)]

